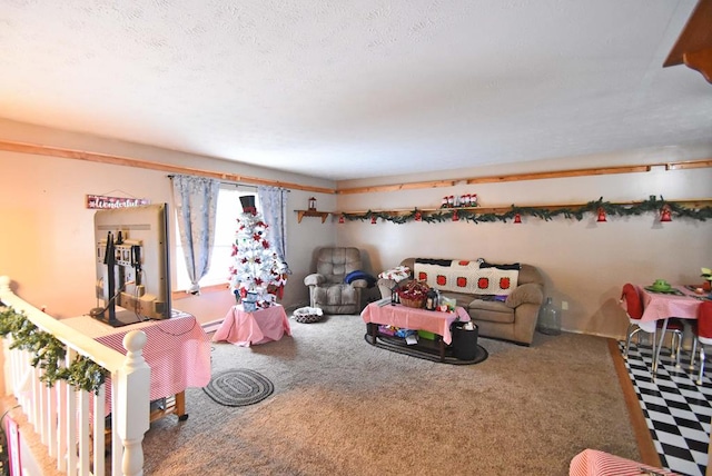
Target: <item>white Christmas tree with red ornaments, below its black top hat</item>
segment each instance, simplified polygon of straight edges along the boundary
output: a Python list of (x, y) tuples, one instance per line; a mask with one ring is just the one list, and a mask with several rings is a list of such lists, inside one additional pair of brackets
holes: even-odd
[(286, 266), (271, 249), (268, 226), (255, 210), (240, 214), (233, 244), (234, 262), (230, 266), (230, 289), (240, 298), (247, 292), (277, 294), (286, 282)]

